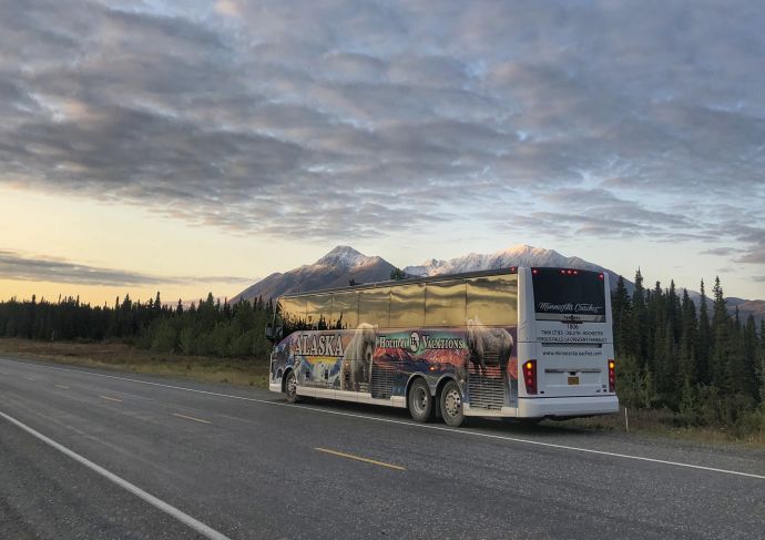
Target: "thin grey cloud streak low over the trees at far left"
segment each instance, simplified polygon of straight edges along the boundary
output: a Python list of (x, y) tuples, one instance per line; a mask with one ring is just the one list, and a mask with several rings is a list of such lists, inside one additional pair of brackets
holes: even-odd
[(160, 284), (187, 285), (211, 282), (241, 285), (253, 282), (252, 278), (235, 276), (157, 276), (113, 268), (100, 268), (51, 257), (26, 256), (4, 249), (0, 249), (0, 279), (113, 287)]

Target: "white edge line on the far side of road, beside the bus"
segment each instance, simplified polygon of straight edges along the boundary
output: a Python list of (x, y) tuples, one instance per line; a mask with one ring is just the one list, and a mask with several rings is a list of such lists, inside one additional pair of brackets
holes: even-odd
[[(12, 360), (10, 358), (6, 358), (6, 360), (18, 361), (18, 360)], [(24, 364), (24, 363), (20, 363), (20, 364)], [(604, 450), (592, 450), (590, 448), (580, 448), (580, 447), (575, 447), (575, 446), (555, 445), (552, 442), (542, 442), (539, 440), (520, 439), (517, 437), (507, 437), (504, 435), (493, 435), (493, 434), (482, 434), (482, 432), (478, 432), (478, 431), (468, 431), (466, 429), (456, 429), (456, 428), (450, 428), (450, 427), (446, 427), (446, 426), (432, 426), (432, 425), (428, 425), (428, 424), (415, 424), (411, 421), (404, 421), (404, 420), (391, 420), (389, 418), (376, 418), (374, 416), (357, 415), (355, 412), (343, 412), (339, 410), (327, 410), (327, 409), (320, 409), (317, 407), (310, 407), (310, 406), (305, 406), (305, 405), (290, 405), (290, 404), (284, 404), (284, 403), (278, 403), (278, 401), (268, 401), (266, 399), (257, 399), (257, 398), (252, 398), (252, 397), (235, 396), (232, 394), (222, 394), (222, 393), (210, 391), (210, 390), (198, 390), (195, 388), (186, 388), (183, 386), (163, 385), (162, 383), (151, 383), (149, 380), (133, 379), (130, 377), (119, 377), (116, 375), (105, 375), (105, 374), (98, 374), (98, 373), (93, 373), (93, 371), (84, 371), (82, 369), (69, 369), (69, 368), (63, 368), (63, 367), (53, 367), (53, 366), (44, 366), (44, 365), (41, 367), (45, 367), (49, 369), (58, 369), (60, 371), (73, 371), (73, 373), (93, 375), (95, 377), (108, 377), (111, 379), (130, 380), (132, 383), (140, 383), (143, 385), (161, 386), (163, 388), (172, 388), (175, 390), (194, 391), (197, 394), (206, 394), (210, 396), (220, 396), (220, 397), (227, 397), (227, 398), (232, 398), (232, 399), (242, 399), (244, 401), (253, 401), (253, 403), (257, 403), (257, 404), (276, 405), (279, 407), (293, 407), (293, 408), (298, 408), (298, 409), (313, 410), (315, 412), (324, 412), (327, 415), (338, 415), (338, 416), (347, 416), (347, 417), (351, 417), (351, 418), (363, 418), (366, 420), (381, 421), (381, 422), (388, 422), (388, 424), (397, 424), (397, 425), (401, 425), (401, 426), (410, 426), (412, 428), (436, 429), (438, 431), (449, 431), (449, 432), (453, 432), (453, 434), (469, 435), (469, 436), (473, 436), (473, 437), (484, 437), (488, 439), (509, 440), (512, 442), (521, 442), (524, 445), (543, 446), (547, 448), (558, 448), (558, 449), (562, 449), (562, 450), (571, 450), (571, 451), (578, 451), (578, 452), (584, 452), (584, 454), (596, 454), (600, 456), (610, 456), (610, 457), (614, 457), (614, 458), (634, 459), (638, 461), (649, 461), (652, 463), (671, 465), (674, 467), (685, 467), (688, 469), (707, 470), (707, 471), (713, 471), (713, 472), (723, 472), (725, 475), (736, 475), (736, 476), (742, 476), (742, 477), (747, 477), (747, 478), (757, 478), (759, 480), (765, 480), (764, 475), (754, 475), (751, 472), (740, 472), (737, 470), (728, 470), (728, 469), (716, 469), (714, 467), (704, 467), (702, 465), (683, 463), (680, 461), (669, 461), (665, 459), (645, 458), (642, 456), (630, 456), (629, 454), (606, 452)]]

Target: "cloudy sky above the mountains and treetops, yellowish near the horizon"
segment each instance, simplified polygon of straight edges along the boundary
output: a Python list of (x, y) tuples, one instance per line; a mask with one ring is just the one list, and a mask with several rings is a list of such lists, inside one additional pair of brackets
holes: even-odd
[(516, 244), (765, 298), (761, 2), (0, 0), (0, 298)]

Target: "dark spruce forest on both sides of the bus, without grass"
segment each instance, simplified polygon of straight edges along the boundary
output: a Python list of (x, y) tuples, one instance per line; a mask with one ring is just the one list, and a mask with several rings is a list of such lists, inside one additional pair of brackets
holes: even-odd
[[(633, 293), (619, 278), (612, 294), (616, 391), (623, 406), (665, 410), (681, 426), (724, 427), (736, 434), (765, 432), (765, 320), (730, 315), (720, 278), (712, 296), (701, 282), (698, 305), (674, 282), (643, 285)], [(231, 304), (212, 293), (190, 306), (129, 295), (113, 306), (64, 297), (0, 303), (0, 337), (37, 340), (116, 340), (174, 355), (265, 361), (271, 344), (264, 328), (272, 300)]]

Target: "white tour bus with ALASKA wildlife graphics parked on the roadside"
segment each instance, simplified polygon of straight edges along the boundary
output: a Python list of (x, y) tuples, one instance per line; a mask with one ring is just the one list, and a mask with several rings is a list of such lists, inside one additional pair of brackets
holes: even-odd
[(426, 421), (619, 411), (605, 273), (511, 267), (278, 298), (269, 389)]

